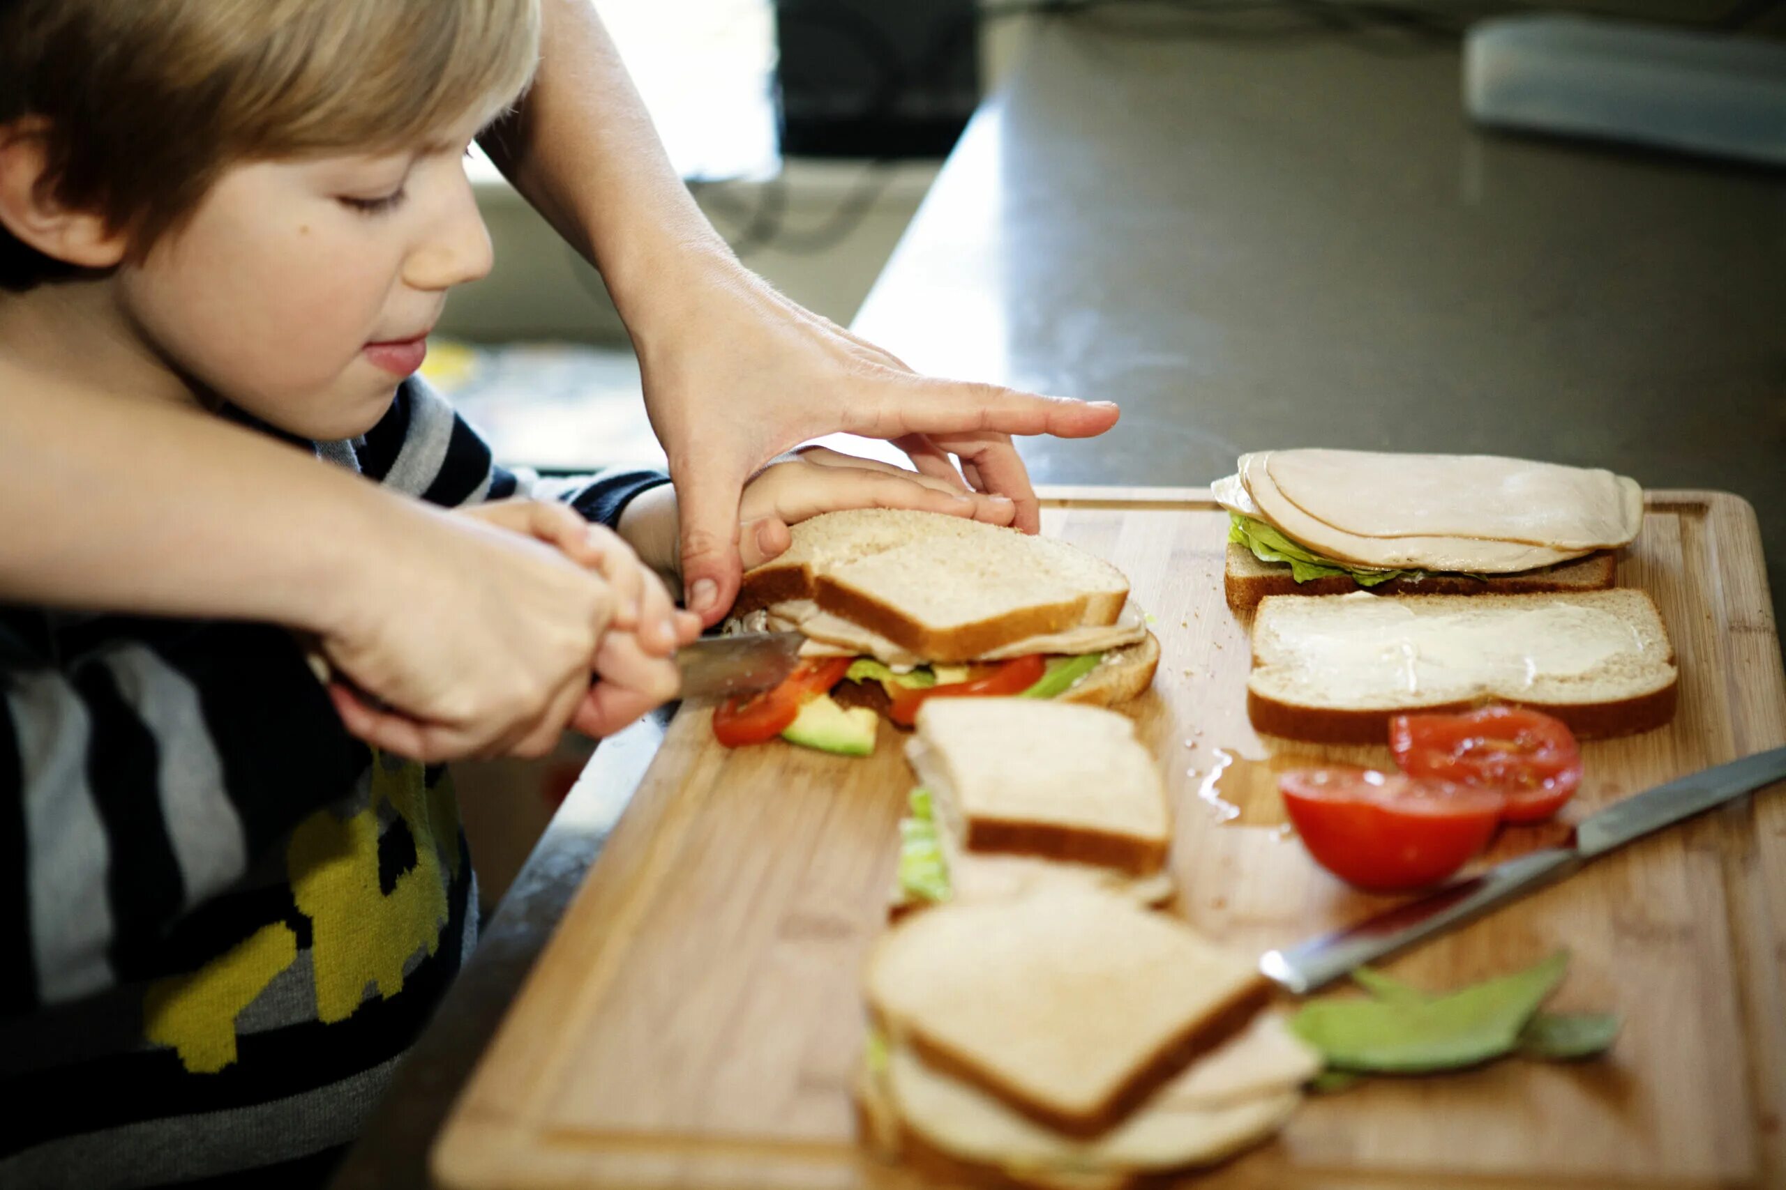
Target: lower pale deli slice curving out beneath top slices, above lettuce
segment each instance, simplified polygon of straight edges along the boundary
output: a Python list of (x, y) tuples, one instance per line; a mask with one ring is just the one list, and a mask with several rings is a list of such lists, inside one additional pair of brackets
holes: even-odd
[(1513, 574), (1579, 558), (1584, 550), (1552, 550), (1516, 541), (1479, 537), (1363, 537), (1334, 528), (1288, 500), (1272, 478), (1275, 451), (1241, 455), (1239, 478), (1259, 512), (1288, 537), (1314, 553), (1366, 569), (1448, 571), (1463, 574)]

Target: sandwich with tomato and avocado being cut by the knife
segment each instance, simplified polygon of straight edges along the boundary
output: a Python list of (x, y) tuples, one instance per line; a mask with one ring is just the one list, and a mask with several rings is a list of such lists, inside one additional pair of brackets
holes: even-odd
[[(768, 731), (873, 749), (877, 714), (909, 726), (932, 698), (1013, 694), (1113, 705), (1141, 694), (1159, 640), (1109, 562), (1050, 537), (934, 512), (863, 508), (793, 526), (745, 574), (729, 630), (798, 632), (797, 721)], [(836, 692), (839, 698), (830, 698)], [(775, 703), (777, 692), (757, 696)], [(725, 731), (743, 701), (714, 714)], [(814, 724), (823, 730), (814, 730)]]

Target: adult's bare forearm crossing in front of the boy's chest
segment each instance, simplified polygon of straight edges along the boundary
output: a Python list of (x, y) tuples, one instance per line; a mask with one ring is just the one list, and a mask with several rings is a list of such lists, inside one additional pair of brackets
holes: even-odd
[(5, 601), (329, 632), (355, 530), (398, 503), (198, 410), (0, 394)]

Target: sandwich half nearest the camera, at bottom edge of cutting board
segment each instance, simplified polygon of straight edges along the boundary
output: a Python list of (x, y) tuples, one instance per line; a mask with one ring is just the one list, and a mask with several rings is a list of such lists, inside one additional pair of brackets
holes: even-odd
[(1123, 1186), (1234, 1156), (1320, 1056), (1257, 965), (1084, 885), (943, 905), (870, 956), (864, 1140), (956, 1185)]

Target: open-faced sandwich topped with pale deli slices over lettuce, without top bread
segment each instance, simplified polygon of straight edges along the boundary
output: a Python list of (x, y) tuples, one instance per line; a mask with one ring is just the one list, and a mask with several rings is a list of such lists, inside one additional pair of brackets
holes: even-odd
[(1604, 591), (1643, 525), (1636, 480), (1493, 455), (1261, 451), (1213, 492), (1234, 610), (1273, 594)]

